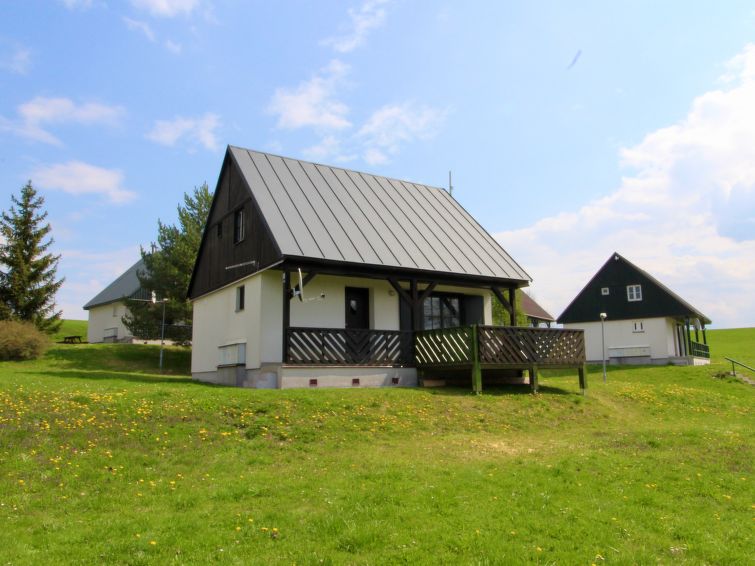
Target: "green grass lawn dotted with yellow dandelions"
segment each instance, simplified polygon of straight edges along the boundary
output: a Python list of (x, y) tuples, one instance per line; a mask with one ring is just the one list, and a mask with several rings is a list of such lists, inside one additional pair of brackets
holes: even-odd
[[(187, 350), (0, 363), (11, 564), (752, 564), (755, 388), (714, 364), (527, 388), (255, 391)], [(748, 347), (748, 344), (750, 345)], [(729, 353), (729, 351), (731, 353)]]

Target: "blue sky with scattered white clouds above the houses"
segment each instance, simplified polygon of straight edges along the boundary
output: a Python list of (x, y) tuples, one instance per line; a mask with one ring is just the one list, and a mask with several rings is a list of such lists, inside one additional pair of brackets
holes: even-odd
[(554, 315), (613, 251), (755, 325), (749, 2), (0, 4), (0, 208), (88, 299), (227, 144), (445, 186)]

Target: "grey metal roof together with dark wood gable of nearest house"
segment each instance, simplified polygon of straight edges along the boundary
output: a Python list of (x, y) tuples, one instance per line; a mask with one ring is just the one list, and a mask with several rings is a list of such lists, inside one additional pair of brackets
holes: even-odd
[[(248, 219), (242, 242), (230, 240), (239, 211)], [(507, 287), (530, 281), (441, 188), (229, 146), (189, 297), (274, 265)]]

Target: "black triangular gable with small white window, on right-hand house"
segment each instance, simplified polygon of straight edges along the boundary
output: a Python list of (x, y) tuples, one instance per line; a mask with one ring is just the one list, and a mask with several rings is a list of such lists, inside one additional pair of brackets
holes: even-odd
[[(641, 286), (642, 300), (628, 300), (628, 285)], [(599, 321), (602, 312), (608, 315), (608, 320), (671, 316), (699, 318), (703, 323), (710, 322), (676, 293), (617, 253), (611, 255), (566, 307), (558, 322)]]

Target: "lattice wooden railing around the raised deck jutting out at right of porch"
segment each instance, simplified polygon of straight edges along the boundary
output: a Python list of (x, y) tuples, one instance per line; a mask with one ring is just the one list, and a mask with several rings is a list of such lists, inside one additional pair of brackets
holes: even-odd
[(475, 347), (479, 363), (487, 366), (574, 366), (586, 359), (581, 330), (468, 326), (415, 333), (417, 367), (469, 365)]

